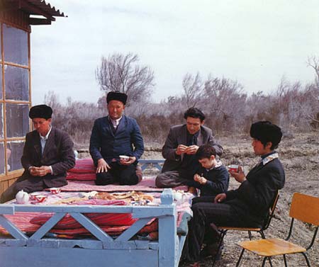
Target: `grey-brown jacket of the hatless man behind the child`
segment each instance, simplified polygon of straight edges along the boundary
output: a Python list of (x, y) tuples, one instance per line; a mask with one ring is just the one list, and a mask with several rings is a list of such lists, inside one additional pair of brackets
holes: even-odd
[[(178, 156), (175, 153), (179, 144), (187, 145), (186, 125), (176, 125), (169, 130), (169, 135), (162, 147), (162, 155), (164, 159), (166, 159), (162, 168), (162, 173), (165, 171), (177, 171), (181, 166), (183, 155)], [(211, 129), (206, 126), (201, 126), (198, 133), (197, 145), (200, 146), (201, 144), (211, 144), (215, 147), (219, 156), (223, 154), (223, 147), (216, 143)]]

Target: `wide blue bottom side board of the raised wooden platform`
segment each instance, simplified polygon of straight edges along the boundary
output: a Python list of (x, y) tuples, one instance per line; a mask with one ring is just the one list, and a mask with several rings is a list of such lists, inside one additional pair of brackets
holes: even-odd
[(0, 247), (0, 264), (5, 267), (158, 267), (155, 250), (50, 249)]

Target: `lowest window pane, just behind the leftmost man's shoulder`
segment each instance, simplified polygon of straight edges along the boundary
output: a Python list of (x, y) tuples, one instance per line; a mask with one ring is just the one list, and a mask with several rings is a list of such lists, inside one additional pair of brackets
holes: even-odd
[[(7, 143), (8, 171), (22, 169), (21, 156), (23, 152), (24, 141), (15, 141)], [(9, 155), (10, 154), (10, 155)]]

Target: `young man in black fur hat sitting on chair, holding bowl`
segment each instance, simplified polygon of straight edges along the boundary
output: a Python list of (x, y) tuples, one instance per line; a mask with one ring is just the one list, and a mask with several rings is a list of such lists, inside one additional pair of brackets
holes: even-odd
[[(281, 141), (280, 127), (269, 121), (259, 121), (250, 127), (250, 136), (254, 154), (261, 157), (259, 164), (247, 176), (242, 169), (230, 172), (240, 183), (236, 190), (216, 195), (214, 203), (192, 206), (194, 217), (189, 223), (184, 259), (196, 262), (201, 256), (216, 254), (218, 259), (221, 250), (217, 250), (220, 237), (217, 227), (261, 227), (276, 192), (284, 187), (284, 169), (274, 151)], [(216, 226), (214, 229), (209, 227), (211, 223)], [(201, 250), (204, 237), (208, 246)]]

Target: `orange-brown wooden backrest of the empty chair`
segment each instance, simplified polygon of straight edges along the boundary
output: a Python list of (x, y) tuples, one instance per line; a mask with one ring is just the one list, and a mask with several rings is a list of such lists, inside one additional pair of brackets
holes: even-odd
[(319, 226), (319, 198), (294, 193), (289, 216)]

